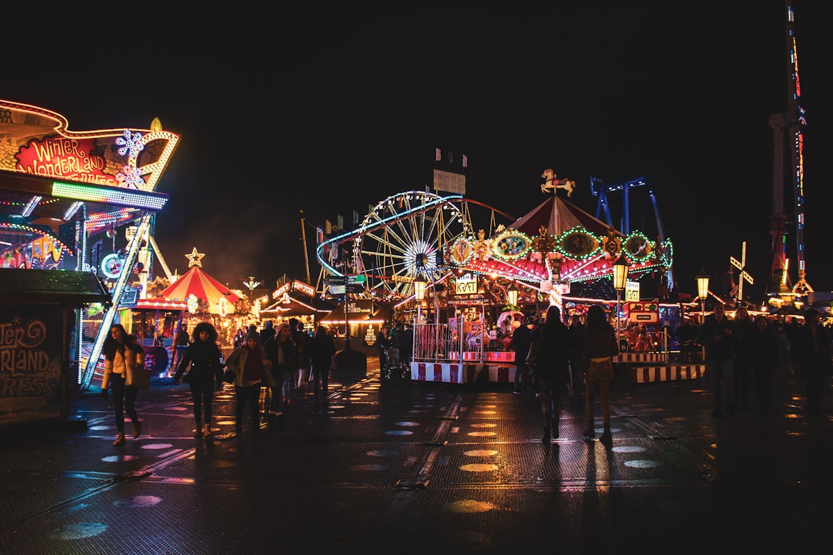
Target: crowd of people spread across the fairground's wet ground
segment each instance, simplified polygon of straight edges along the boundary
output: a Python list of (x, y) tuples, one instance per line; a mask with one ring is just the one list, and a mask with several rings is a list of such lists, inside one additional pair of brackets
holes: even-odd
[[(826, 379), (833, 374), (833, 334), (830, 328), (821, 325), (818, 310), (804, 310), (802, 316), (803, 322), (767, 315), (753, 319), (745, 307), (739, 307), (730, 318), (724, 305), (718, 303), (701, 325), (686, 319), (677, 326), (676, 338), (683, 360), (696, 359), (698, 349), (705, 351), (713, 418), (750, 410), (753, 383), (757, 409), (769, 412), (775, 369), (792, 367), (796, 362), (805, 381), (805, 409), (811, 414), (821, 411)], [(603, 443), (611, 442), (609, 394), (621, 345), (617, 344), (616, 332), (601, 306), (589, 307), (584, 319), (582, 322), (579, 315), (573, 314), (566, 325), (558, 307), (550, 306), (543, 320), (533, 321), (524, 315), (514, 325), (511, 335), (502, 338), (506, 339), (503, 348), (515, 354), (513, 393), (535, 394), (541, 399), (545, 442), (559, 437), (561, 399), (568, 389), (574, 394), (584, 394), (587, 416), (584, 435), (588, 439), (596, 437), (594, 409), (598, 392), (603, 424), (599, 439)], [(635, 333), (641, 334), (641, 330)], [(410, 362), (411, 325), (383, 326), (376, 339), (380, 368), (392, 362)], [(254, 434), (260, 433), (262, 416), (266, 416), (269, 427), (283, 428), (284, 411), (300, 399), (305, 387), (312, 389), (315, 404), (327, 404), (329, 374), (336, 369), (336, 347), (332, 334), (324, 326), (317, 326), (311, 336), (295, 318), (277, 329), (271, 321), (262, 330), (251, 325), (245, 331), (238, 331), (234, 349), (225, 360), (217, 345), (217, 331), (208, 322), (198, 324), (191, 337), (180, 330), (174, 345), (174, 382), (184, 381), (191, 390), (196, 438), (212, 437), (213, 392), (222, 387), (223, 381), (234, 384), (238, 435), (242, 434), (247, 408)], [(144, 351), (137, 338), (118, 324), (112, 325), (102, 350), (105, 357), (102, 395), (109, 399), (107, 391), (112, 389), (117, 426), (113, 445), (118, 446), (126, 443), (125, 412), (132, 421), (133, 437), (142, 434), (136, 411), (137, 392), (142, 388), (134, 377), (143, 368)], [(259, 398), (264, 387), (267, 404), (262, 415)]]

